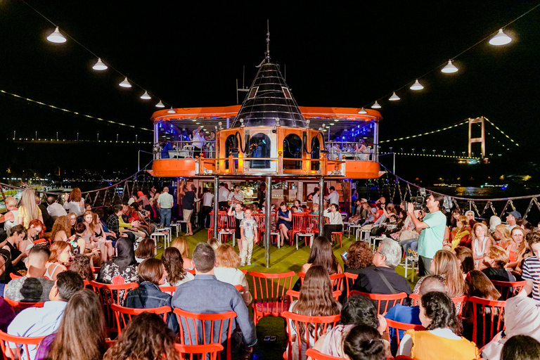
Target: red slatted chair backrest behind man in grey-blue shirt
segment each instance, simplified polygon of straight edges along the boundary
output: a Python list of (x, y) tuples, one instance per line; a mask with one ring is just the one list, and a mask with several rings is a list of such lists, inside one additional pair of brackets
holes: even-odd
[(223, 334), (226, 335), (227, 360), (231, 360), (231, 322), (236, 318), (236, 312), (196, 314), (178, 307), (174, 308), (173, 312), (180, 326), (179, 338), (182, 345), (223, 344)]

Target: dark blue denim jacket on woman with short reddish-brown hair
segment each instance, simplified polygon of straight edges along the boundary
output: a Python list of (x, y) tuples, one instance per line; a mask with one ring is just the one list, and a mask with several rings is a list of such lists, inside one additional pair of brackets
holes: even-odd
[[(163, 293), (158, 285), (143, 281), (139, 288), (133, 289), (127, 293), (124, 307), (132, 309), (149, 309), (151, 307), (171, 307), (172, 296)], [(167, 315), (167, 326), (173, 330), (175, 334), (179, 332), (178, 321), (176, 315), (169, 313)]]

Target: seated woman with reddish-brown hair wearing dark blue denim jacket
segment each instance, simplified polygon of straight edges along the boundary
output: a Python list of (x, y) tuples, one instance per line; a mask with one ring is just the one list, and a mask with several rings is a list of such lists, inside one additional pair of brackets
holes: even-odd
[[(172, 307), (172, 296), (163, 293), (160, 285), (165, 284), (165, 266), (160, 259), (146, 259), (139, 265), (139, 276), (142, 282), (139, 288), (129, 290), (124, 307), (134, 309), (150, 309), (153, 307)], [(178, 322), (174, 314), (167, 317), (167, 325), (173, 331), (178, 331)]]

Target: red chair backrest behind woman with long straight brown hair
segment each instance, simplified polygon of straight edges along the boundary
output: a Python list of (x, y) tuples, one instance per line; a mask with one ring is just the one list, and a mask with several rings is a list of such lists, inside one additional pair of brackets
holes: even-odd
[(333, 326), (341, 319), (341, 314), (330, 316), (307, 316), (289, 311), (284, 311), (281, 316), (287, 321), (289, 360), (293, 360), (293, 337), (295, 334), (300, 341), (297, 341), (299, 346), (298, 357), (295, 357), (294, 359), (301, 360), (304, 348), (306, 350), (309, 349), (309, 347), (319, 340), (321, 335), (325, 334), (330, 328), (333, 328)]

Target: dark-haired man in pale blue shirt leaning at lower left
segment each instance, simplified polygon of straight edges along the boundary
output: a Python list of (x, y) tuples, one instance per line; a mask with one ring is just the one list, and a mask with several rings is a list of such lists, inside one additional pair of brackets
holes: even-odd
[[(8, 334), (25, 338), (51, 335), (60, 326), (68, 300), (83, 288), (82, 278), (75, 271), (61, 272), (49, 293), (50, 301), (45, 302), (43, 307), (30, 307), (20, 311), (8, 326)], [(19, 349), (15, 349), (13, 342), (9, 344), (13, 352), (19, 352), (21, 359), (34, 359), (37, 350), (35, 345), (28, 345), (28, 358), (23, 345), (18, 345)]]

